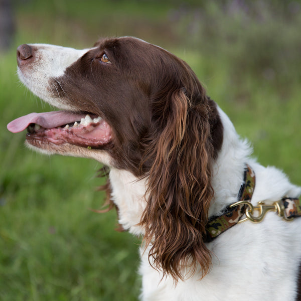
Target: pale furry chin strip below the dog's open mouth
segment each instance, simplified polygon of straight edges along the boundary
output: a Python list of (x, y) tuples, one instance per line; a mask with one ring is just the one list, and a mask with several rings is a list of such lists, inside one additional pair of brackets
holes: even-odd
[(113, 167), (113, 159), (104, 149), (90, 149), (71, 143), (55, 144), (49, 141), (27, 139), (25, 145), (43, 155), (62, 155), (94, 159), (106, 166)]

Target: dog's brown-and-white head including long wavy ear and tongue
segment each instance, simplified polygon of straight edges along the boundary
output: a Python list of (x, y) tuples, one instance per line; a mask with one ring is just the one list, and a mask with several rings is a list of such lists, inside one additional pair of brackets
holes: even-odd
[(202, 234), (223, 127), (190, 67), (128, 37), (84, 50), (21, 45), (18, 66), (21, 81), (62, 111), (20, 117), (9, 129), (28, 127), (27, 144), (46, 153), (89, 157), (145, 177), (140, 223), (155, 265), (175, 278), (188, 262), (208, 271)]

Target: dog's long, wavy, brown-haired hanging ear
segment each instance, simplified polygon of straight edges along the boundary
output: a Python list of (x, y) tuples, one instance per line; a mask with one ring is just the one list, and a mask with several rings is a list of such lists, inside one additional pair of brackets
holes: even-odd
[(188, 276), (182, 267), (205, 275), (211, 266), (202, 238), (214, 195), (211, 167), (222, 143), (217, 108), (204, 90), (189, 95), (180, 88), (157, 98), (154, 116), (144, 157), (152, 159), (141, 218), (145, 250), (150, 264), (176, 281)]

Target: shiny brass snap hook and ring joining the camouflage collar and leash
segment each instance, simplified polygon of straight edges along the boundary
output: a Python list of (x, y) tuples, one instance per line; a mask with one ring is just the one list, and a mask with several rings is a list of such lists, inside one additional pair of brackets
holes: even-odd
[[(230, 208), (239, 205), (247, 205), (248, 207), (245, 210), (246, 218), (240, 220), (238, 223), (242, 223), (246, 220), (250, 220), (253, 223), (260, 223), (265, 217), (265, 214), (269, 211), (276, 212), (279, 217), (282, 217), (286, 221), (293, 220), (293, 218), (285, 217), (284, 205), (281, 200), (274, 202), (272, 205), (265, 205), (264, 202), (258, 202), (257, 206), (253, 206), (248, 201), (239, 201), (230, 205)], [(258, 214), (254, 215), (254, 211), (258, 211)]]

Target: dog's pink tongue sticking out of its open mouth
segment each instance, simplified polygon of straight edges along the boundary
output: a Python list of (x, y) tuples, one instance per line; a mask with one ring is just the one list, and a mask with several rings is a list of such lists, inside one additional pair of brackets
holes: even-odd
[(44, 128), (54, 128), (74, 121), (79, 121), (81, 118), (85, 118), (85, 116), (86, 114), (76, 114), (64, 111), (30, 113), (11, 121), (7, 125), (7, 128), (13, 133), (25, 130), (31, 123), (39, 124)]

